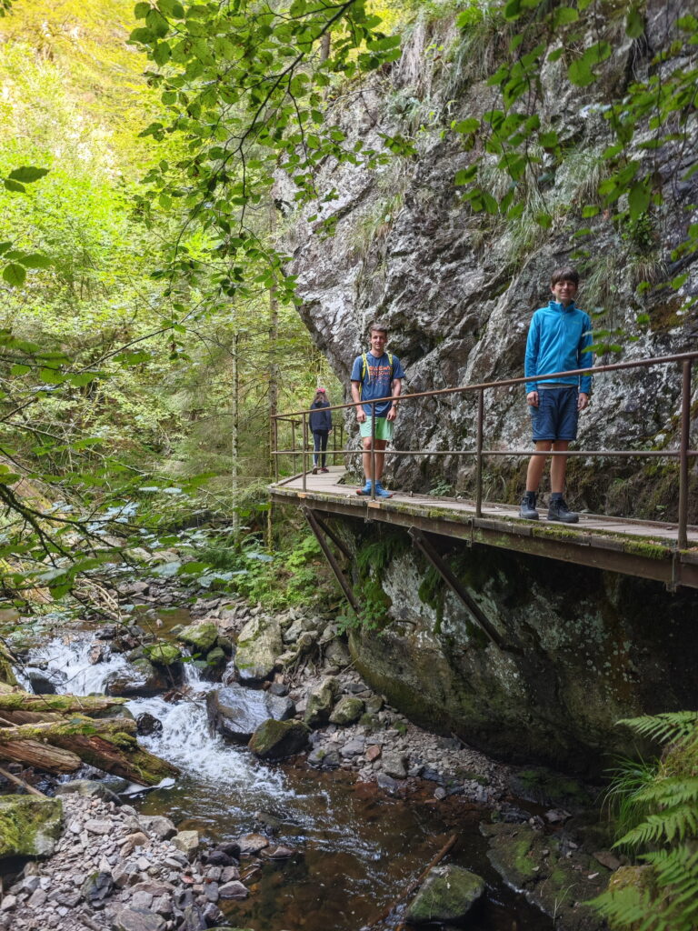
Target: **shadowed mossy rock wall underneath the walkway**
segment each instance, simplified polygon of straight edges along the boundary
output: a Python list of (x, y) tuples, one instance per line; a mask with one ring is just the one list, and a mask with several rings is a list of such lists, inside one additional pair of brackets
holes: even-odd
[(415, 722), (512, 762), (597, 775), (635, 748), (619, 719), (698, 707), (692, 590), (441, 538), (500, 650), (406, 532), (335, 526), (366, 605), (356, 666)]

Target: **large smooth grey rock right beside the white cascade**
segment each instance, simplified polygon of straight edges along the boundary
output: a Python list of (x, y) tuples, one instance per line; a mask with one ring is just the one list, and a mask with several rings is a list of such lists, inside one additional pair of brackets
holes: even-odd
[(289, 698), (248, 689), (235, 682), (209, 692), (206, 708), (209, 726), (240, 743), (247, 743), (264, 722), (287, 721), (295, 714)]

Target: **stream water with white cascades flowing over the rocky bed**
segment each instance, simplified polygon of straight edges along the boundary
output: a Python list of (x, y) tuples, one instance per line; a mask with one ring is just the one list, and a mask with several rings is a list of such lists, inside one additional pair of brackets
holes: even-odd
[[(50, 641), (33, 652), (32, 665), (40, 664), (60, 692), (101, 693), (111, 675), (128, 669), (128, 660), (114, 654), (91, 665), (89, 644), (89, 637)], [(128, 702), (134, 715), (147, 711), (162, 722), (161, 734), (139, 739), (182, 773), (174, 785), (143, 794), (137, 802), (141, 811), (167, 815), (182, 830), (195, 828), (211, 842), (256, 831), (297, 851), (289, 860), (252, 866), (251, 872), (243, 861), (252, 894), (245, 902), (219, 903), (232, 924), (254, 931), (358, 931), (381, 919), (456, 834), (451, 859), (488, 884), (468, 924), (471, 931), (553, 927), (490, 868), (478, 830), (488, 816), (481, 806), (458, 796), (436, 803), (434, 785), (427, 782), (402, 800), (342, 771), (260, 762), (247, 749), (208, 734), (203, 697), (217, 686), (199, 681), (194, 664), (185, 669), (193, 692), (189, 699)], [(396, 928), (399, 914), (398, 909), (381, 929)]]

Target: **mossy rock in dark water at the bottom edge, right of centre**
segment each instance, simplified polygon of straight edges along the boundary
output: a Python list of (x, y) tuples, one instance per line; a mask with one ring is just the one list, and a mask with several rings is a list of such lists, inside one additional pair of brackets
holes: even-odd
[(485, 881), (470, 870), (435, 867), (409, 903), (407, 919), (412, 924), (462, 922), (484, 891)]

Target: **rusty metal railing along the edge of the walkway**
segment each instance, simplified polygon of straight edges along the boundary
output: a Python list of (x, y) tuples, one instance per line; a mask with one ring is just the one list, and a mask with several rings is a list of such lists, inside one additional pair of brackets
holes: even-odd
[[(459, 385), (454, 388), (437, 388), (433, 391), (420, 391), (414, 394), (401, 395), (399, 398), (400, 405), (406, 401), (417, 400), (419, 398), (438, 398), (445, 395), (463, 395), (468, 393), (477, 394), (477, 435), (476, 448), (474, 450), (391, 450), (391, 456), (475, 456), (476, 459), (476, 517), (482, 517), (482, 461), (485, 456), (583, 456), (583, 457), (617, 457), (617, 458), (664, 458), (678, 460), (678, 533), (677, 546), (679, 549), (688, 547), (688, 506), (689, 506), (689, 460), (698, 456), (698, 450), (689, 449), (689, 431), (691, 426), (691, 365), (694, 359), (698, 358), (698, 352), (680, 353), (675, 356), (660, 356), (656, 358), (639, 359), (632, 362), (616, 362), (613, 365), (597, 366), (593, 369), (574, 369), (571, 371), (553, 371), (542, 375), (522, 378), (507, 378), (500, 382), (483, 382), (477, 385)], [(649, 369), (661, 365), (680, 364), (681, 378), (681, 403), (680, 403), (680, 427), (677, 450), (568, 450), (568, 451), (536, 451), (536, 450), (488, 450), (483, 449), (484, 434), (484, 397), (485, 392), (497, 388), (509, 387), (510, 385), (522, 385), (528, 382), (547, 381), (554, 378), (561, 378), (570, 375), (594, 375), (595, 377), (607, 371), (622, 371), (624, 369)], [(370, 405), (371, 412), (375, 412), (376, 404), (380, 404), (386, 398), (373, 398), (362, 401), (362, 405)], [(348, 404), (333, 404), (325, 411), (343, 411), (348, 408), (356, 408), (358, 405), (355, 401)], [(302, 455), (302, 489), (307, 490), (306, 475), (308, 472), (308, 456), (314, 455), (315, 452), (310, 449), (308, 443), (308, 416), (311, 410), (295, 411), (290, 413), (276, 414), (274, 420), (274, 456), (275, 456), (275, 480), (278, 482), (278, 457), (283, 455), (292, 455), (294, 457)], [(296, 420), (296, 425), (302, 423), (302, 449), (295, 449), (295, 426), (292, 426), (292, 446), (290, 450), (278, 449), (278, 425), (283, 422), (291, 422), (293, 418), (302, 418), (302, 421)], [(375, 449), (375, 417), (371, 418), (371, 449), (370, 451), (356, 449), (334, 449), (328, 450), (328, 455), (353, 455), (357, 453), (370, 454), (370, 472), (373, 477), (376, 474), (376, 451)], [(295, 459), (294, 459), (295, 461)], [(372, 482), (371, 497), (375, 499), (375, 480)]]

